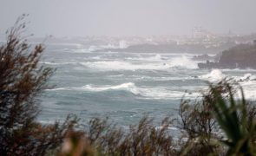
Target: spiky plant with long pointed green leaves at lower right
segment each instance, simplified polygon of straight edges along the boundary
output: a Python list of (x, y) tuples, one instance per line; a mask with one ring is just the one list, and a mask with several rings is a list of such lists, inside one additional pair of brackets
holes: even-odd
[[(227, 85), (229, 98), (223, 98), (216, 88), (211, 88), (215, 98), (214, 114), (221, 130), (226, 134), (226, 140), (221, 140), (228, 146), (227, 155), (256, 155), (255, 110), (247, 110), (244, 92), (240, 88), (241, 101), (234, 99), (232, 87)], [(255, 108), (255, 107), (254, 107)], [(249, 119), (248, 119), (249, 117)]]

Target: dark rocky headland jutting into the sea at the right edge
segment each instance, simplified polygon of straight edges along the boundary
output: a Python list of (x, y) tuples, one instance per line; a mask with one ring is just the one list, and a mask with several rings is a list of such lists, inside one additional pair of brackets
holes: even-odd
[(256, 44), (241, 44), (225, 50), (219, 62), (198, 63), (199, 68), (256, 68)]

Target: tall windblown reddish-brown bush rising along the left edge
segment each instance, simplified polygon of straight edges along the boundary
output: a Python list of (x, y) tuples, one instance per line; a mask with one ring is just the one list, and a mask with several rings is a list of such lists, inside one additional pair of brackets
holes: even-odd
[(38, 96), (53, 73), (38, 62), (43, 45), (31, 47), (21, 37), (26, 23), (20, 16), (0, 45), (0, 155), (44, 155), (55, 151), (75, 121), (42, 125)]

